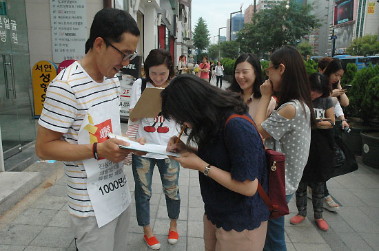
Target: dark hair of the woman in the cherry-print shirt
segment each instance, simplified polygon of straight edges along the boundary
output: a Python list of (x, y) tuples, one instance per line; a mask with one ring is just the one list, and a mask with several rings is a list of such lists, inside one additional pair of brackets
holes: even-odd
[(152, 79), (149, 76), (150, 67), (163, 64), (167, 67), (167, 69), (170, 70), (168, 74), (168, 79), (170, 80), (175, 75), (174, 65), (172, 65), (172, 56), (170, 52), (164, 49), (151, 50), (149, 55), (146, 57), (145, 62), (143, 63), (146, 80), (152, 83)]

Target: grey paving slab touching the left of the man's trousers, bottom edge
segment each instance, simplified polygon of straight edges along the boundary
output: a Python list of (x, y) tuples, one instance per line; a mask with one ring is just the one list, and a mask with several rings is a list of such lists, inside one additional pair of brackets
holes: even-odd
[(70, 228), (45, 227), (30, 245), (49, 248), (68, 248), (74, 239)]

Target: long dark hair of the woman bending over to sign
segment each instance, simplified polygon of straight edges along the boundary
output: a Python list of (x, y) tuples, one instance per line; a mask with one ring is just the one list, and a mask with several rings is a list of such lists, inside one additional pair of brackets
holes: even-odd
[(161, 98), (164, 118), (172, 118), (178, 124), (192, 124), (187, 142), (214, 142), (223, 129), (223, 120), (228, 112), (243, 114), (248, 111), (240, 94), (209, 85), (192, 74), (173, 78), (161, 92)]

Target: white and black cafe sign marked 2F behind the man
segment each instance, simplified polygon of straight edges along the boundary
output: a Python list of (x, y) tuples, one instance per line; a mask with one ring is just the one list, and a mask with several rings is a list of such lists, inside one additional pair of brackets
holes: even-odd
[(120, 80), (121, 95), (120, 95), (120, 116), (121, 118), (129, 117), (130, 109), (130, 91), (132, 91), (132, 86), (134, 80), (141, 78), (141, 63), (142, 56), (136, 56), (129, 65), (124, 66), (121, 69), (122, 79)]

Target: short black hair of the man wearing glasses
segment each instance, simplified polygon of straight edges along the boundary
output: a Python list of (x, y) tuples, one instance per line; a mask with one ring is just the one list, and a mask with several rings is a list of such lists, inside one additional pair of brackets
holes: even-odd
[(129, 13), (113, 8), (99, 10), (92, 21), (90, 38), (85, 42), (85, 54), (93, 47), (96, 38), (118, 43), (125, 32), (139, 36), (137, 23)]

